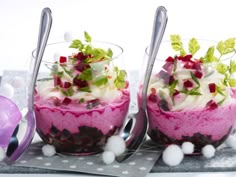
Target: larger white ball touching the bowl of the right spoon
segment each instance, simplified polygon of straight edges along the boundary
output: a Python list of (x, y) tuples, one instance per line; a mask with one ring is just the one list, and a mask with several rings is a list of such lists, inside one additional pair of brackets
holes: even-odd
[(111, 136), (107, 140), (107, 144), (105, 146), (106, 151), (113, 152), (116, 156), (121, 155), (125, 152), (126, 144), (123, 138), (118, 135)]

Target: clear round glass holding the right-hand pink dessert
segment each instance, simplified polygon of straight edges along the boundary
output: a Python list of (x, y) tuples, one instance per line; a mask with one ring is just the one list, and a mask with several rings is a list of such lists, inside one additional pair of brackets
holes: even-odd
[[(183, 40), (186, 51), (188, 41)], [(201, 152), (207, 144), (217, 147), (228, 137), (235, 122), (235, 88), (222, 84), (225, 76), (215, 69), (219, 62), (200, 61), (208, 48), (217, 43), (198, 42), (201, 48), (193, 57), (196, 60), (188, 53), (180, 57), (170, 41), (164, 41), (155, 61), (147, 95), (148, 135), (163, 148), (186, 141), (195, 145), (195, 152)], [(229, 63), (232, 56), (225, 56), (222, 63)], [(147, 58), (148, 48), (144, 62)]]

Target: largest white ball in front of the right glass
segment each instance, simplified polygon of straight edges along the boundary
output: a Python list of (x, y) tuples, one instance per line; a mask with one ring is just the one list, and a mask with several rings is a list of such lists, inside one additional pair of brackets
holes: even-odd
[(162, 160), (166, 165), (176, 166), (179, 165), (184, 158), (182, 149), (175, 145), (169, 145), (162, 154)]

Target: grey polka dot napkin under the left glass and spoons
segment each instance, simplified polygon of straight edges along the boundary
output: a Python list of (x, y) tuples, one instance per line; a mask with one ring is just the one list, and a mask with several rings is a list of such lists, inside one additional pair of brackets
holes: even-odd
[(33, 143), (14, 166), (119, 177), (145, 177), (161, 154), (161, 151), (150, 150), (149, 145), (145, 143), (128, 160), (106, 165), (102, 161), (101, 154), (91, 156), (56, 154), (53, 157), (46, 157), (41, 151), (43, 145), (42, 142)]

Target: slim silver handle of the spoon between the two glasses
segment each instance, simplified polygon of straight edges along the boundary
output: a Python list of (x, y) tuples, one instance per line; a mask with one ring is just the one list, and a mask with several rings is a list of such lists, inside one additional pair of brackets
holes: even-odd
[(159, 6), (156, 9), (154, 23), (153, 23), (153, 30), (152, 30), (152, 37), (151, 37), (151, 43), (149, 47), (149, 53), (148, 53), (148, 62), (147, 62), (147, 69), (144, 76), (144, 83), (143, 83), (143, 89), (142, 89), (142, 108), (146, 110), (147, 105), (147, 89), (148, 89), (148, 83), (150, 81), (150, 77), (152, 74), (152, 68), (157, 56), (157, 52), (159, 50), (166, 24), (167, 24), (167, 13), (166, 9), (163, 6)]

